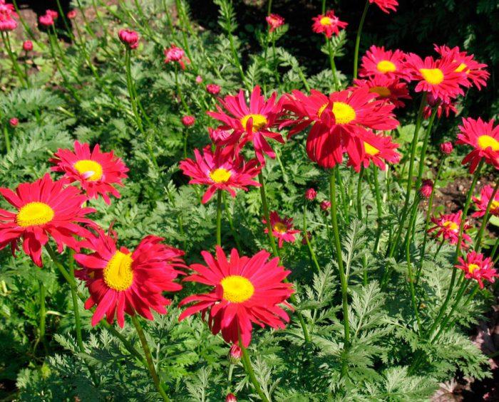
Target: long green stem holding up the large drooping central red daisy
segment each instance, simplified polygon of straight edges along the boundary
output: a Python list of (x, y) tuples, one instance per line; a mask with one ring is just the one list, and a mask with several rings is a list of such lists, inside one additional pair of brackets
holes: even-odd
[[(338, 166), (334, 170), (338, 170)], [(350, 346), (350, 324), (348, 305), (348, 282), (343, 267), (343, 256), (341, 255), (341, 241), (339, 239), (338, 220), (336, 216), (336, 175), (334, 171), (329, 174), (329, 201), (331, 201), (331, 226), (334, 234), (334, 246), (336, 248), (336, 260), (338, 262), (339, 279), (341, 282), (341, 303), (343, 305), (343, 325), (344, 325), (344, 350)], [(346, 360), (341, 365), (341, 376), (346, 374)]]

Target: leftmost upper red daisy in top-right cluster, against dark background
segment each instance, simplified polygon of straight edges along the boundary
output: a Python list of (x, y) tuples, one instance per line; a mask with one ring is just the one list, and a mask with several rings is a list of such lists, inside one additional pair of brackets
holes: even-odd
[(385, 47), (371, 46), (362, 58), (359, 75), (370, 77), (371, 75), (386, 75), (387, 77), (402, 78), (410, 80), (411, 75), (405, 68), (404, 60), (406, 53), (403, 51), (385, 51)]

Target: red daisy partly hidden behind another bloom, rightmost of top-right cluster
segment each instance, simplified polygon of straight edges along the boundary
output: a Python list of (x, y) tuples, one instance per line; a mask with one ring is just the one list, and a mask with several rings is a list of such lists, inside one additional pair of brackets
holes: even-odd
[(475, 85), (478, 90), (482, 89), (482, 85), (485, 87), (487, 85), (487, 80), (490, 74), (487, 70), (483, 70), (487, 67), (484, 63), (479, 63), (473, 58), (473, 55), (468, 55), (467, 52), (461, 52), (456, 46), (455, 48), (449, 48), (448, 46), (437, 46), (435, 45), (435, 51), (441, 55), (442, 58), (447, 58), (453, 62), (458, 62), (458, 68), (456, 71), (459, 73), (463, 71), (468, 79), (467, 87)]

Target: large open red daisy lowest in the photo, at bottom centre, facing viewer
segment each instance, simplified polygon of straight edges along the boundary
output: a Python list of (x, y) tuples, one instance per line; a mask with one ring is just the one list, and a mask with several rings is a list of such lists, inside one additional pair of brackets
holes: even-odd
[(187, 307), (179, 321), (197, 312), (206, 317), (213, 334), (222, 332), (225, 342), (237, 343), (241, 337), (242, 345), (251, 342), (252, 324), (260, 327), (268, 325), (274, 329), (284, 329), (289, 316), (280, 305), (289, 304), (286, 300), (292, 295), (292, 285), (283, 282), (290, 271), (279, 266), (279, 258), (268, 261), (270, 254), (262, 250), (249, 257), (240, 257), (232, 249), (230, 260), (224, 251), (216, 247), (216, 258), (206, 251), (202, 252), (206, 265), (193, 264), (195, 271), (184, 280), (212, 286), (210, 293), (185, 297), (180, 306), (195, 302)]

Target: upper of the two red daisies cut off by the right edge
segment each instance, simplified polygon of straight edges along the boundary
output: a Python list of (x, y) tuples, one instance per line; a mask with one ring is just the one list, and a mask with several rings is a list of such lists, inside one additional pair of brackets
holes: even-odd
[(473, 147), (473, 151), (463, 159), (463, 164), (470, 164), (470, 173), (475, 171), (482, 159), (499, 169), (499, 125), (494, 127), (494, 120), (484, 122), (480, 117), (478, 120), (464, 118), (456, 144)]

